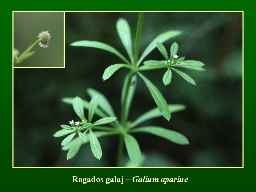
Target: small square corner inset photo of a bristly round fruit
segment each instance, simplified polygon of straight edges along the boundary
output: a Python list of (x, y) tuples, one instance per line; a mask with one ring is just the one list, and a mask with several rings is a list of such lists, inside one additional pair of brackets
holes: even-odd
[(64, 12), (13, 12), (13, 66), (64, 68)]

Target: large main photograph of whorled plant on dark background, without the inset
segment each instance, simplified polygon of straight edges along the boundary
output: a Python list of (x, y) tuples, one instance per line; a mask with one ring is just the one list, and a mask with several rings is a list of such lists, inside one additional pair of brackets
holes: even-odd
[(65, 69), (14, 77), (15, 166), (242, 166), (242, 12), (65, 12)]

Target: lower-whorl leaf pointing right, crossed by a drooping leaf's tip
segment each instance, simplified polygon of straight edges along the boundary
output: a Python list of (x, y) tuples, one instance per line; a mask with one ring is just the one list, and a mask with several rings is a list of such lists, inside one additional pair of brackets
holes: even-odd
[[(168, 107), (169, 107), (169, 110), (170, 110), (171, 113), (182, 111), (186, 108), (185, 105), (181, 105), (181, 104), (171, 104), (171, 105), (168, 105)], [(131, 124), (130, 127), (131, 128), (135, 127), (138, 124), (143, 123), (144, 121), (148, 121), (149, 119), (156, 118), (156, 117), (161, 117), (161, 116), (162, 116), (162, 114), (160, 113), (159, 109), (157, 107), (153, 108), (153, 109), (149, 110), (148, 112), (142, 114), (140, 117), (138, 117)]]

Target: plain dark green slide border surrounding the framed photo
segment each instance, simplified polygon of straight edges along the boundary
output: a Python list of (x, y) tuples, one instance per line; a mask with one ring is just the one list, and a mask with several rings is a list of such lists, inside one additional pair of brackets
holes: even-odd
[[(133, 4), (132, 1), (127, 2), (126, 6), (122, 6), (117, 3), (117, 6), (119, 7), (113, 7), (114, 3), (105, 2), (105, 3), (97, 3), (97, 5), (90, 5), (87, 4), (85, 1), (82, 1), (81, 4), (76, 2), (75, 5), (72, 5), (71, 2), (64, 3), (66, 5), (60, 5), (57, 3), (56, 5), (51, 5), (52, 2), (44, 2), (42, 5), (38, 6), (28, 6), (33, 5), (35, 2), (33, 1), (33, 4), (30, 4), (30, 2), (22, 3), (21, 5), (15, 4), (14, 6), (9, 6), (8, 8), (5, 8), (4, 11), (1, 12), (2, 18), (3, 16), (10, 16), (7, 20), (4, 20), (4, 23), (6, 23), (6, 26), (8, 26), (8, 30), (4, 31), (2, 29), (2, 36), (12, 38), (10, 29), (12, 28), (12, 11), (13, 10), (244, 10), (244, 16), (245, 18), (251, 18), (253, 21), (251, 21), (253, 26), (254, 21), (254, 12), (250, 8), (246, 8), (245, 2), (240, 3), (228, 3), (226, 2), (226, 5), (223, 4), (224, 1), (214, 1), (210, 2), (211, 5), (208, 7), (202, 7), (203, 5), (206, 5), (205, 1), (202, 2), (191, 2), (190, 4), (186, 4), (184, 1), (182, 2), (170, 2), (166, 1), (158, 5), (150, 5), (150, 3), (146, 3), (145, 5), (137, 5), (138, 1), (135, 1), (135, 4)], [(40, 2), (38, 2), (40, 4)], [(159, 2), (158, 2), (159, 3)], [(107, 4), (107, 5), (106, 5)], [(44, 6), (48, 5), (48, 6)], [(136, 5), (136, 6), (134, 6)], [(201, 5), (201, 7), (199, 7)], [(149, 7), (150, 6), (150, 7)], [(251, 15), (251, 17), (249, 17)], [(247, 21), (249, 22), (249, 21)], [(247, 23), (245, 21), (245, 24)], [(4, 26), (4, 25), (2, 25)], [(252, 33), (254, 30), (247, 30), (246, 33)], [(246, 34), (245, 33), (245, 34)], [(247, 34), (248, 36), (248, 34)], [(254, 35), (251, 35), (250, 37), (254, 37)], [(9, 38), (3, 38), (3, 41), (7, 41)], [(249, 36), (247, 37), (249, 38)], [(8, 42), (9, 43), (9, 42)], [(5, 43), (7, 45), (7, 42)], [(254, 43), (252, 43), (253, 45)], [(10, 48), (12, 50), (12, 48)], [(253, 50), (253, 49), (252, 49)], [(8, 55), (8, 54), (7, 54)], [(11, 57), (10, 59), (6, 59), (6, 62), (2, 62), (2, 67), (4, 68), (4, 71), (1, 75), (1, 82), (6, 82), (7, 79), (10, 79), (11, 81), (11, 69), (12, 64), (11, 63)], [(5, 63), (9, 63), (8, 65), (4, 65)], [(249, 67), (255, 66), (254, 62), (249, 65)], [(22, 70), (22, 69), (15, 69), (15, 70)], [(36, 69), (35, 69), (36, 70)], [(63, 69), (59, 69), (63, 70)], [(249, 70), (248, 70), (249, 71)], [(251, 73), (254, 73), (253, 69), (250, 70)], [(251, 76), (251, 82), (254, 82), (254, 74)], [(248, 75), (249, 78), (249, 75)], [(9, 80), (8, 80), (9, 82)], [(247, 82), (250, 82), (249, 80)], [(11, 103), (11, 97), (9, 96), (9, 93), (11, 92), (11, 82), (10, 83), (2, 83), (2, 94), (4, 98), (2, 98), (2, 101), (4, 102), (4, 105), (7, 103)], [(252, 87), (255, 85), (253, 84)], [(248, 85), (249, 87), (249, 85)], [(251, 97), (247, 98), (247, 102), (252, 101), (252, 97), (254, 95), (251, 95)], [(6, 103), (6, 104), (5, 104)], [(255, 151), (253, 148), (253, 133), (255, 133), (254, 124), (251, 124), (251, 129), (246, 130), (245, 133), (245, 146), (247, 146), (247, 150), (245, 150), (245, 161), (244, 161), (244, 167), (243, 169), (111, 169), (111, 168), (97, 168), (97, 169), (13, 169), (12, 168), (12, 134), (11, 131), (9, 131), (10, 122), (11, 120), (11, 110), (9, 105), (3, 106), (2, 111), (6, 110), (5, 113), (6, 117), (2, 118), (2, 129), (6, 131), (6, 134), (4, 136), (4, 133), (2, 133), (2, 136), (4, 136), (4, 139), (1, 142), (2, 143), (2, 187), (8, 187), (8, 188), (33, 188), (33, 190), (37, 190), (38, 188), (46, 188), (50, 190), (51, 188), (65, 188), (65, 189), (103, 189), (107, 190), (108, 188), (126, 188), (126, 187), (132, 187), (134, 190), (136, 189), (151, 189), (154, 188), (157, 190), (173, 190), (173, 189), (191, 189), (191, 188), (197, 188), (197, 189), (203, 189), (203, 190), (209, 190), (213, 188), (246, 188), (250, 187), (252, 188), (254, 183), (254, 176), (250, 175), (250, 173), (253, 171), (253, 164), (252, 161), (253, 158), (249, 157), (249, 147), (252, 148), (252, 153)], [(8, 115), (7, 115), (8, 114)], [(10, 115), (9, 115), (10, 114)], [(249, 119), (249, 118), (247, 118)], [(252, 118), (253, 119), (253, 118)], [(247, 122), (249, 125), (249, 122)], [(7, 128), (7, 129), (5, 129)], [(8, 131), (7, 131), (8, 130)], [(231, 133), (232, 134), (232, 133)], [(163, 184), (161, 182), (158, 183), (134, 183), (132, 181), (127, 181), (123, 185), (119, 183), (110, 183), (106, 184), (103, 183), (73, 183), (72, 176), (82, 177), (82, 178), (91, 178), (93, 176), (100, 177), (100, 178), (107, 178), (107, 177), (124, 177), (127, 179), (132, 179), (134, 176), (148, 176), (148, 177), (184, 177), (188, 178), (188, 182), (186, 183), (167, 183)], [(255, 187), (254, 187), (255, 188)]]

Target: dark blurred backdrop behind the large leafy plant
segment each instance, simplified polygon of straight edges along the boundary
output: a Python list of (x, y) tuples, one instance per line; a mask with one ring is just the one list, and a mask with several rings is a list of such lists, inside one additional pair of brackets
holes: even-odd
[[(71, 119), (77, 119), (62, 97), (76, 95), (89, 100), (86, 88), (106, 95), (117, 116), (127, 69), (117, 71), (103, 82), (102, 74), (111, 64), (122, 61), (100, 49), (71, 47), (79, 40), (95, 40), (113, 46), (127, 58), (116, 32), (116, 21), (126, 18), (134, 42), (137, 12), (66, 12), (65, 69), (14, 69), (14, 166), (107, 166), (116, 164), (118, 137), (102, 137), (103, 156), (96, 160), (90, 145), (83, 145), (75, 158), (66, 161), (60, 150), (62, 138), (52, 135)], [(181, 30), (181, 36), (164, 43), (179, 44), (178, 55), (205, 63), (206, 71), (187, 72), (193, 86), (173, 73), (164, 86), (164, 70), (147, 71), (167, 103), (181, 103), (186, 110), (141, 125), (162, 126), (184, 134), (190, 145), (177, 145), (146, 133), (133, 134), (146, 156), (143, 166), (237, 167), (242, 166), (242, 12), (146, 12), (140, 54), (158, 34)], [(158, 50), (145, 60), (162, 60)], [(142, 80), (138, 80), (129, 119), (156, 107)], [(126, 154), (126, 152), (125, 152)], [(124, 156), (127, 159), (127, 156)]]

